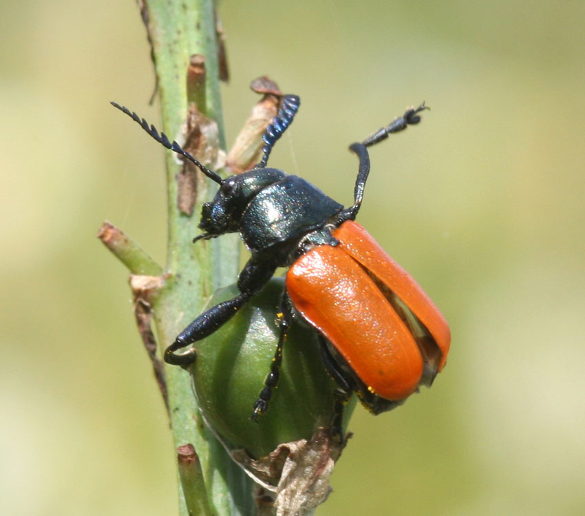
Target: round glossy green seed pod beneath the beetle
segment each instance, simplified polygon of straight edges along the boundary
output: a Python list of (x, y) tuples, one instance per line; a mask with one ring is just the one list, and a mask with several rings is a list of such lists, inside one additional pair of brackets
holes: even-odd
[[(286, 335), (277, 387), (258, 421), (254, 402), (264, 387), (279, 336), (277, 307), (283, 278), (273, 278), (226, 324), (196, 343), (191, 375), (200, 410), (232, 449), (264, 457), (281, 443), (309, 440), (334, 420), (337, 384), (321, 360), (315, 330), (294, 322)], [(209, 305), (237, 295), (236, 285), (217, 290)], [(346, 426), (355, 397), (344, 411)], [(345, 429), (344, 429), (345, 431)]]

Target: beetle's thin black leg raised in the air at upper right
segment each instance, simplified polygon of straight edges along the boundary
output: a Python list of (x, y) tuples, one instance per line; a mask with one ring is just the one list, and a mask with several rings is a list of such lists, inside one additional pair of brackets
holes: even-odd
[(416, 108), (411, 107), (404, 112), (403, 116), (396, 118), (396, 120), (387, 127), (382, 127), (380, 130), (372, 134), (372, 136), (365, 138), (361, 143), (352, 143), (352, 145), (350, 145), (350, 151), (357, 154), (359, 158), (359, 169), (354, 187), (354, 205), (341, 211), (337, 218), (338, 224), (341, 224), (345, 220), (355, 220), (357, 212), (361, 207), (365, 181), (368, 180), (368, 174), (370, 174), (370, 156), (366, 147), (371, 147), (372, 145), (385, 140), (389, 134), (405, 130), (409, 125), (416, 125), (421, 121), (421, 116), (418, 115), (418, 113), (429, 109), (430, 108), (427, 107), (424, 102)]

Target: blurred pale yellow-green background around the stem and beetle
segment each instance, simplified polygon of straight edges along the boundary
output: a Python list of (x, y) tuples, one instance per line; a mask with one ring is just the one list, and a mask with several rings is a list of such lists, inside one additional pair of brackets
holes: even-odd
[[(350, 203), (451, 324), (433, 389), (354, 438), (320, 515), (585, 513), (582, 1), (225, 0), (228, 141), (251, 79), (301, 96), (272, 156)], [(0, 513), (172, 515), (167, 418), (107, 218), (164, 261), (163, 153), (131, 1), (0, 7)], [(193, 229), (193, 234), (197, 231)]]

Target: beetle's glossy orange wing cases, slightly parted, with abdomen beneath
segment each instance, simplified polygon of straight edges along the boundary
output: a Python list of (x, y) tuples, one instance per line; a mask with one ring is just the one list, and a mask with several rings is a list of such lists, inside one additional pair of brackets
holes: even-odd
[(432, 300), (353, 220), (339, 245), (313, 247), (286, 275), (295, 309), (326, 339), (326, 365), (377, 414), (394, 408), (447, 360), (451, 335)]

